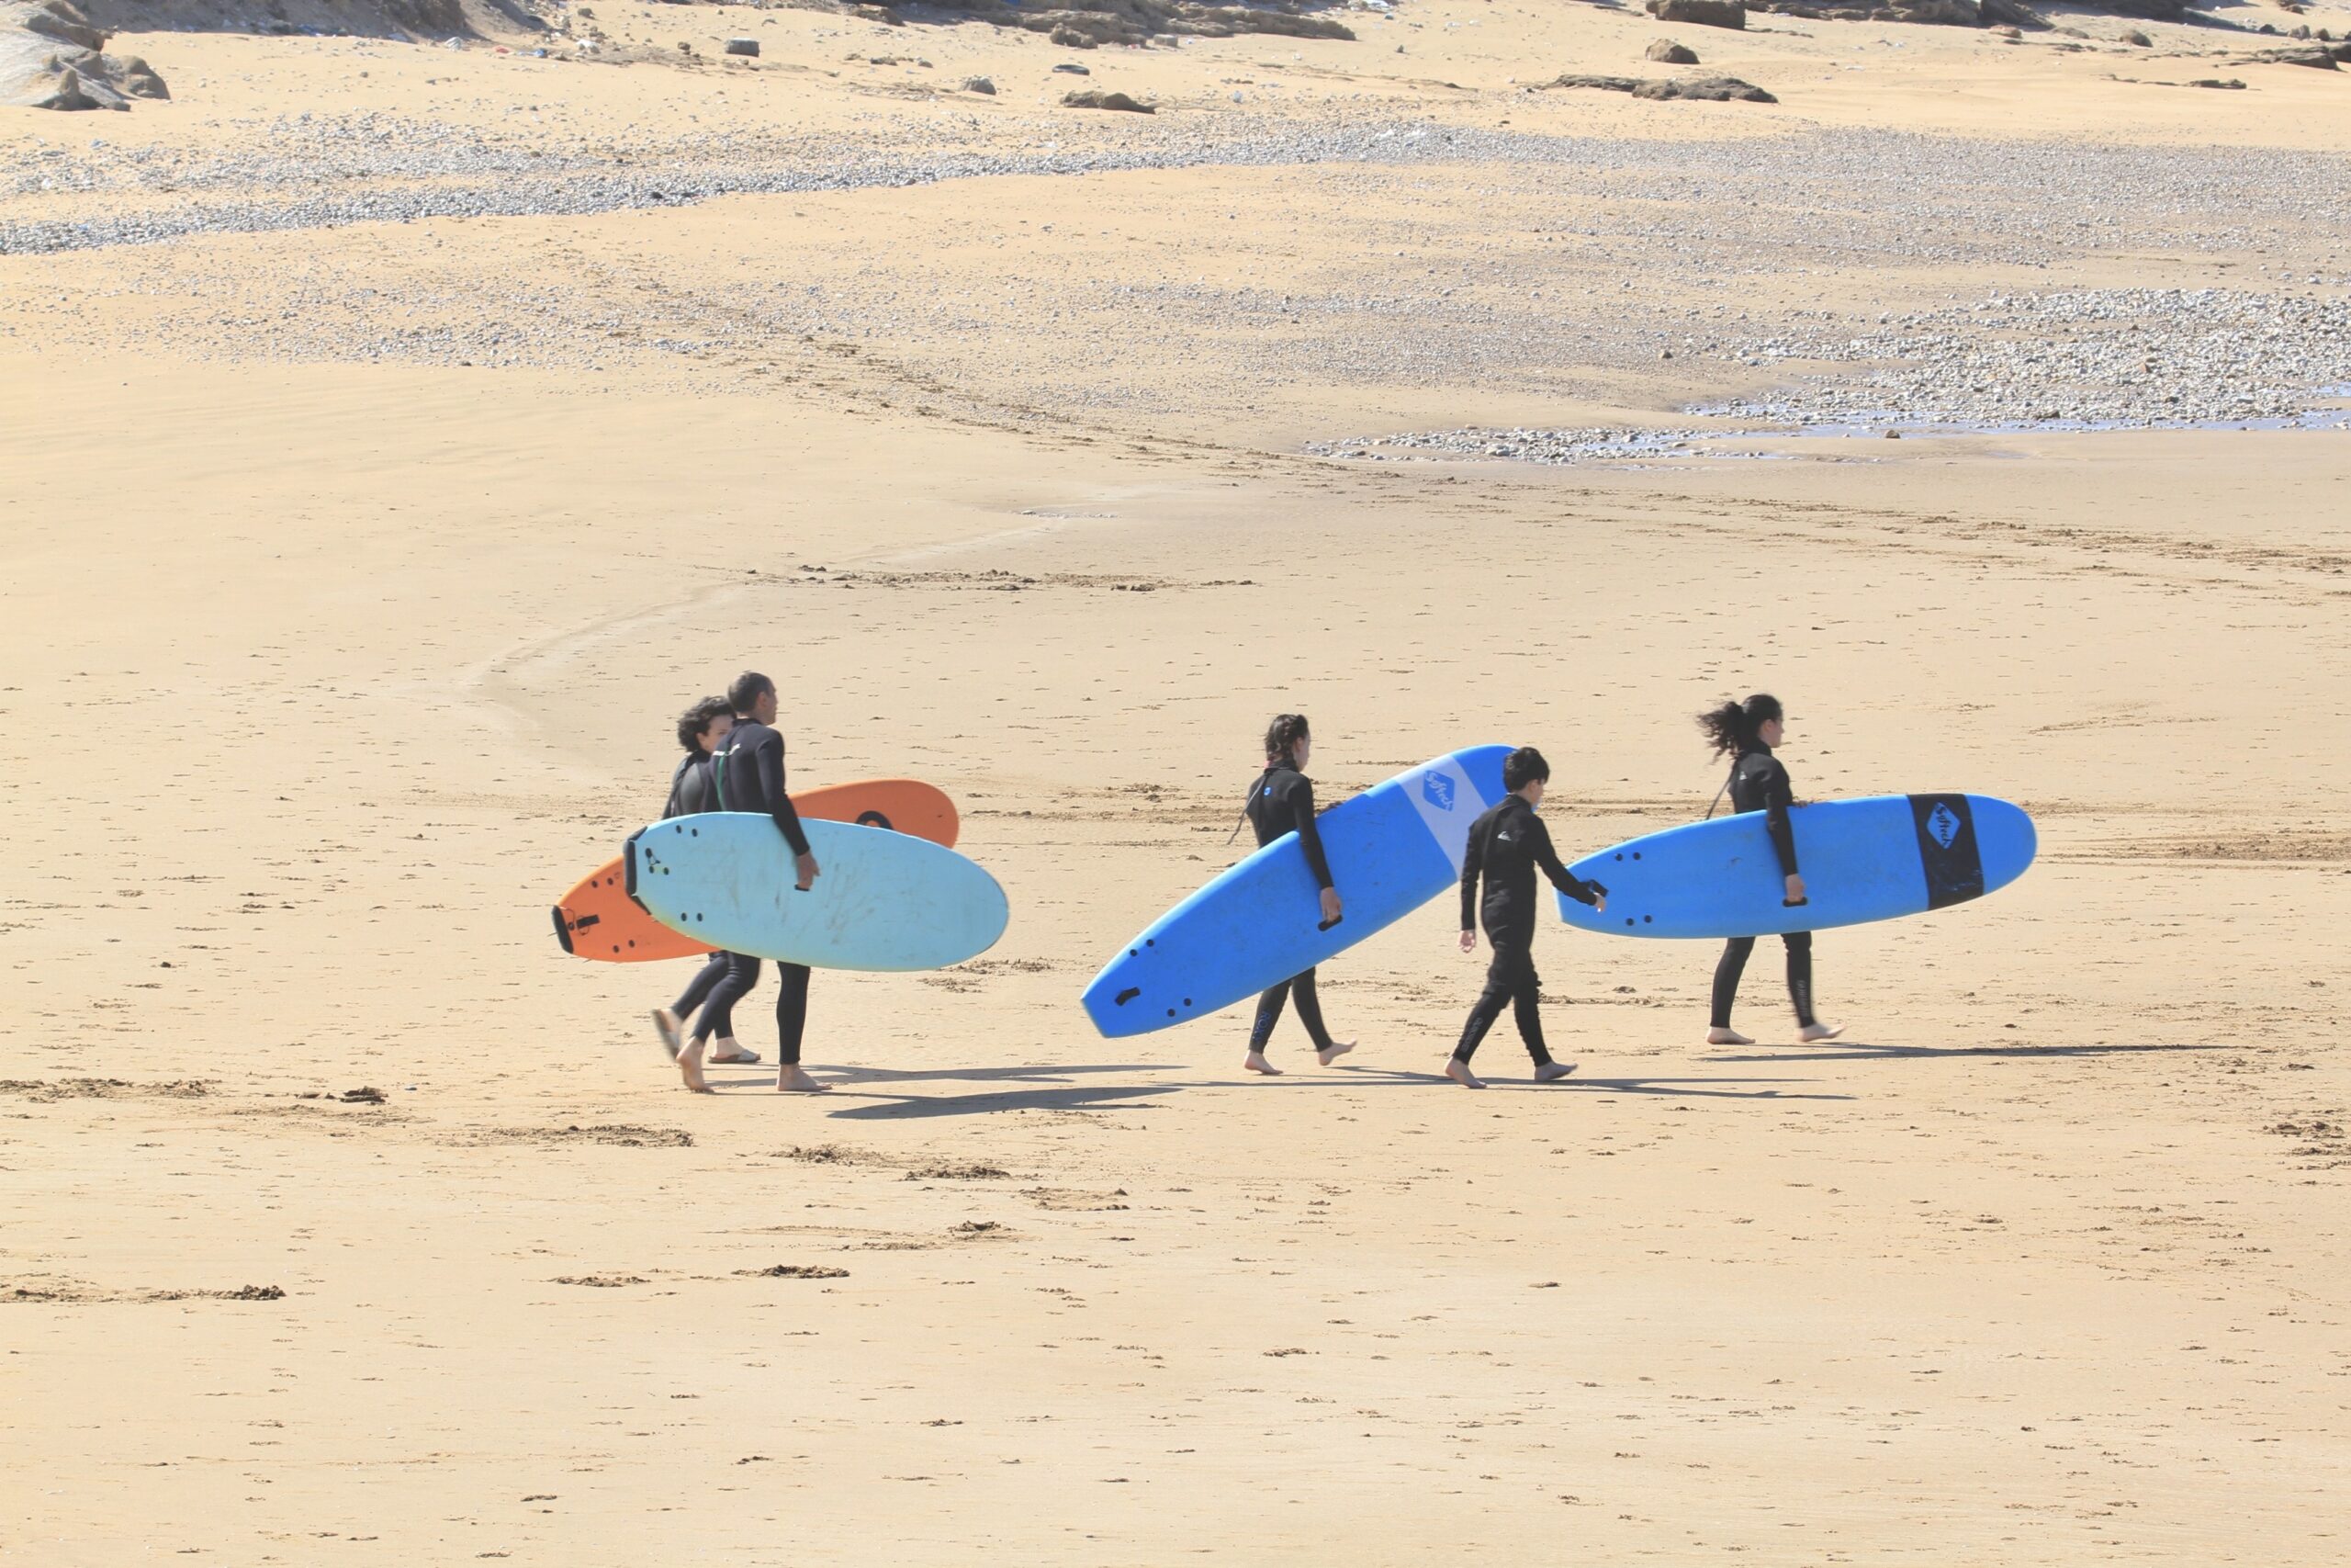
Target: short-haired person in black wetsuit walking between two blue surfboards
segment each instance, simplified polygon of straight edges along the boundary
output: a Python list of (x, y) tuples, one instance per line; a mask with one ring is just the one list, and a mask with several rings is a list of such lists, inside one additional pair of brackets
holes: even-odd
[[(1519, 1018), (1519, 1039), (1535, 1058), (1535, 1081), (1556, 1084), (1575, 1072), (1575, 1063), (1554, 1063), (1542, 1044), (1542, 976), (1535, 973), (1535, 917), (1540, 912), (1535, 872), (1540, 870), (1554, 889), (1575, 903), (1596, 910), (1608, 907), (1608, 889), (1599, 882), (1580, 882), (1559, 863), (1552, 849), (1552, 830), (1542, 825), (1535, 809), (1542, 806), (1542, 785), (1552, 778), (1552, 764), (1533, 745), (1521, 745), (1502, 759), (1502, 788), (1509, 795), (1502, 804), (1469, 825), (1469, 842), (1462, 846), (1462, 952), (1476, 950), (1476, 917), (1486, 917), (1486, 940), (1493, 943), (1493, 964), (1486, 966), (1486, 990), (1469, 1009), (1462, 1025), (1462, 1041), (1453, 1046), (1446, 1077), (1462, 1088), (1486, 1088), (1486, 1081), (1469, 1072), (1486, 1030), (1509, 1006)], [(1479, 903), (1479, 879), (1486, 882), (1486, 898)]]

